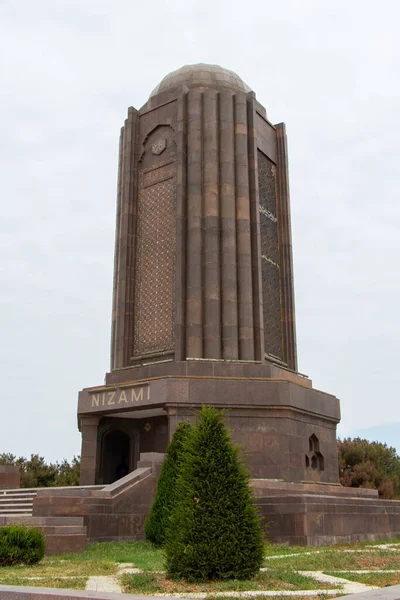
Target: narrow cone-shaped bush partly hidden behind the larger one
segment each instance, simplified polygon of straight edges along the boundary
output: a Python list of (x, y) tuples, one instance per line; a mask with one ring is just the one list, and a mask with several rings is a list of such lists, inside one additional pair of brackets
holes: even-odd
[(176, 504), (176, 480), (182, 460), (182, 449), (191, 431), (190, 423), (180, 423), (167, 448), (156, 495), (145, 523), (146, 538), (156, 546), (162, 546), (165, 542), (168, 522)]

